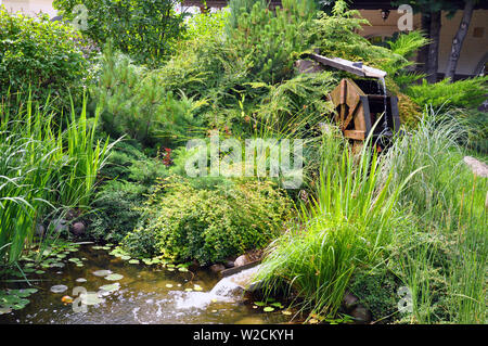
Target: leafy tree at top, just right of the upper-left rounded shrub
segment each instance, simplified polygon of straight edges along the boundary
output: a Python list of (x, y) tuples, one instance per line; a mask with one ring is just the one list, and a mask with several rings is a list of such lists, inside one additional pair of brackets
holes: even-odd
[(167, 56), (183, 28), (183, 14), (175, 12), (178, 0), (54, 0), (53, 7), (68, 21), (85, 21), (81, 31), (100, 44), (114, 48), (139, 63), (157, 64)]

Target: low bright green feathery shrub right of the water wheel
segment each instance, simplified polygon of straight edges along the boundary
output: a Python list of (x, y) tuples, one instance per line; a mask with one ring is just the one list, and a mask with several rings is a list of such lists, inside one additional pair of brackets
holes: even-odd
[(407, 94), (420, 106), (433, 106), (451, 108), (477, 108), (488, 93), (488, 76), (475, 77), (450, 82), (449, 79), (436, 84), (411, 86), (407, 89)]

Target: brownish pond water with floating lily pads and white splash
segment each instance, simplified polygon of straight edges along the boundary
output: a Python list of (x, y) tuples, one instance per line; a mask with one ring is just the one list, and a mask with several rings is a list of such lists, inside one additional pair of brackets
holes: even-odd
[[(242, 296), (216, 298), (210, 292), (219, 277), (208, 270), (180, 272), (132, 265), (91, 245), (81, 245), (73, 256), (85, 258), (84, 266), (64, 260), (63, 268), (50, 268), (36, 277), (40, 281), (31, 283), (39, 291), (29, 297), (30, 303), (22, 310), (0, 315), (0, 323), (283, 323), (291, 320), (279, 310), (265, 312)], [(124, 278), (108, 281), (93, 274), (98, 270), (111, 270)], [(87, 281), (77, 282), (80, 278)], [(70, 304), (62, 302), (65, 295), (78, 297), (75, 287), (97, 296), (101, 286), (115, 282), (119, 283), (118, 290), (105, 293), (102, 303), (87, 306), (85, 312), (75, 312)], [(28, 287), (26, 283), (0, 285)], [(67, 290), (53, 293), (54, 285), (66, 285)], [(190, 289), (193, 291), (185, 291)]]

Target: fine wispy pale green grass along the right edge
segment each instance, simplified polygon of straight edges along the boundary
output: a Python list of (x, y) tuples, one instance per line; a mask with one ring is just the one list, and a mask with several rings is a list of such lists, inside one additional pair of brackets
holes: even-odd
[(385, 158), (393, 187), (424, 167), (399, 197), (416, 227), (397, 234), (393, 257), (412, 292), (413, 322), (486, 323), (488, 181), (463, 163), (465, 133), (455, 118), (431, 111)]

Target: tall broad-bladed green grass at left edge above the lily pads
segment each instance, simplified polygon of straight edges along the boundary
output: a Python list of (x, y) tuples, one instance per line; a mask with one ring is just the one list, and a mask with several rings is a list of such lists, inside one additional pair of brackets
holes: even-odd
[(111, 149), (94, 138), (99, 112), (88, 128), (86, 101), (66, 130), (49, 101), (12, 108), (0, 106), (0, 262), (20, 257), (43, 218), (89, 203)]

